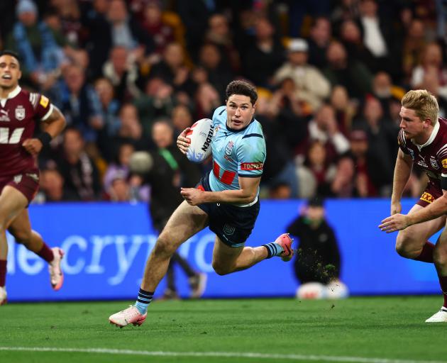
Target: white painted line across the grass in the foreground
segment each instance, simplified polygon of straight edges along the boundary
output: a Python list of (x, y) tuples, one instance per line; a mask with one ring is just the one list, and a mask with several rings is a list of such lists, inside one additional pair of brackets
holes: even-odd
[(145, 355), (151, 357), (233, 357), (255, 359), (289, 359), (314, 362), (354, 362), (354, 363), (447, 363), (447, 361), (387, 359), (368, 357), (338, 357), (314, 354), (264, 354), (253, 352), (151, 352), (148, 350), (118, 350), (106, 348), (55, 348), (55, 347), (0, 347), (1, 351), (9, 352), (56, 352), (56, 353), (94, 353)]

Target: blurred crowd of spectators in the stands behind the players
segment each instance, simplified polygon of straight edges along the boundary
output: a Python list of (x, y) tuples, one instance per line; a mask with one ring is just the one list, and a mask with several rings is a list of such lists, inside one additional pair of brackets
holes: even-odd
[[(40, 155), (36, 201), (148, 200), (132, 152), (156, 150), (156, 121), (178, 135), (210, 118), (232, 79), (258, 89), (261, 190), (275, 199), (390, 196), (405, 91), (428, 89), (447, 114), (446, 0), (2, 0), (0, 12), (21, 85), (69, 125)], [(406, 195), (423, 184), (414, 171)]]

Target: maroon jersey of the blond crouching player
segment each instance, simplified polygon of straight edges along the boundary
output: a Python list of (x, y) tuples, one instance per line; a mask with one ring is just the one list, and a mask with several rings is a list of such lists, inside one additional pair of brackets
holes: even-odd
[(397, 142), (400, 150), (410, 155), (413, 164), (423, 169), (429, 177), (427, 187), (434, 191), (436, 196), (424, 193), (421, 199), (431, 203), (442, 194), (441, 175), (447, 177), (447, 120), (438, 118), (438, 123), (424, 145), (416, 145), (412, 140), (407, 140), (403, 130), (399, 131)]

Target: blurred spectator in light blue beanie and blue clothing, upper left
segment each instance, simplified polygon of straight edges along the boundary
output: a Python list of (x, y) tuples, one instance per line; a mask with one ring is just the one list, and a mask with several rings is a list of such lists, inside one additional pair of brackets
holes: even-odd
[(55, 77), (65, 55), (57, 45), (53, 31), (38, 21), (38, 9), (31, 0), (20, 0), (16, 6), (18, 21), (6, 38), (6, 48), (21, 56), (25, 82), (40, 87)]

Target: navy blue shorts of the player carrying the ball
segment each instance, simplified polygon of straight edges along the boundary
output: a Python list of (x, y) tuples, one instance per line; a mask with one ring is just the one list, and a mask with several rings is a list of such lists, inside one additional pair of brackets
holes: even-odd
[[(209, 174), (200, 180), (197, 188), (211, 191)], [(230, 247), (241, 247), (250, 236), (258, 218), (259, 200), (248, 207), (238, 207), (225, 203), (199, 204), (209, 217), (209, 229)]]

